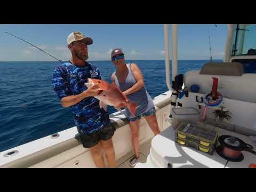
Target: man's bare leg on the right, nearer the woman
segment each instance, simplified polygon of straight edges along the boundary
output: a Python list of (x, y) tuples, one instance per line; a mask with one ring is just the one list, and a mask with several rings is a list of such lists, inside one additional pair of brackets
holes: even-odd
[(108, 160), (109, 167), (111, 167), (111, 168), (116, 167), (116, 155), (115, 155), (112, 138), (110, 138), (106, 141), (101, 140), (100, 142), (102, 143), (103, 149), (106, 152), (106, 157)]

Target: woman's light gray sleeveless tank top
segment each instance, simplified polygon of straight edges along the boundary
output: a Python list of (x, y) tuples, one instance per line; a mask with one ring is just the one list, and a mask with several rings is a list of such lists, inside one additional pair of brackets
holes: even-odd
[[(119, 87), (119, 89), (122, 92), (126, 91), (127, 89), (130, 89), (135, 83), (137, 83), (135, 77), (132, 74), (130, 65), (131, 65), (130, 63), (127, 64), (129, 73), (123, 83), (118, 82), (118, 79), (116, 77), (116, 72), (113, 73), (113, 76), (115, 78), (115, 84)], [(152, 98), (150, 97), (150, 95), (148, 94), (145, 87), (142, 87), (139, 91), (136, 91), (134, 93), (127, 95), (127, 98), (130, 101), (137, 103), (135, 116), (139, 116), (154, 107), (154, 102), (153, 102)], [(131, 115), (128, 108), (125, 108), (125, 116), (127, 118), (134, 117)]]

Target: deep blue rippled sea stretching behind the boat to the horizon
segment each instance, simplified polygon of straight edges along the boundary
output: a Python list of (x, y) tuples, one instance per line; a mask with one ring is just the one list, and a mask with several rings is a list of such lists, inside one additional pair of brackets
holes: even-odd
[[(221, 60), (216, 60), (221, 61)], [(165, 61), (138, 60), (152, 98), (166, 92)], [(196, 70), (209, 60), (179, 60), (179, 73)], [(111, 61), (90, 61), (110, 82)], [(63, 108), (52, 89), (52, 74), (60, 62), (0, 62), (0, 151), (75, 126), (69, 108)], [(115, 112), (108, 107), (109, 114)]]

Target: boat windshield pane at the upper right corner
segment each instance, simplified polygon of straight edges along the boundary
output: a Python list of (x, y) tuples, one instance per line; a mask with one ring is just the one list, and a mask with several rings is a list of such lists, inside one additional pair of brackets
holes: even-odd
[(256, 55), (256, 24), (234, 27), (231, 56), (235, 55)]

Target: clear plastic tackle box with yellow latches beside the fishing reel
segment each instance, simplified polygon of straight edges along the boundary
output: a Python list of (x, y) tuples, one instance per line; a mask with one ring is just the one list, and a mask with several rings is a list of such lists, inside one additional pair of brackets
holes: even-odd
[(181, 122), (175, 130), (175, 142), (210, 155), (213, 155), (218, 143), (217, 138), (218, 127), (201, 122), (196, 124)]

